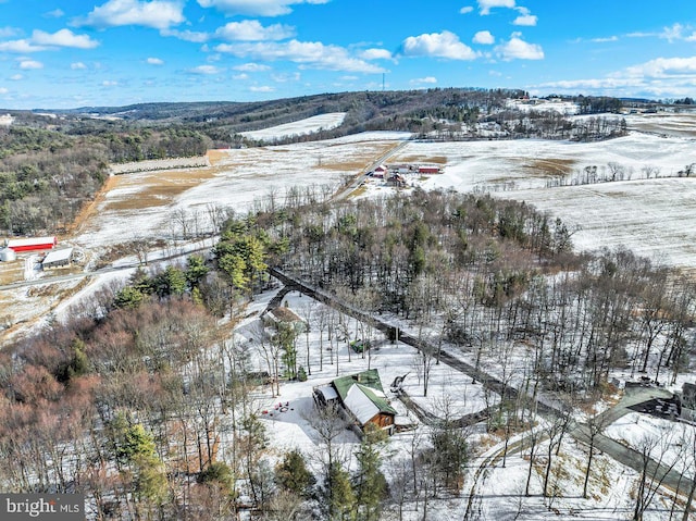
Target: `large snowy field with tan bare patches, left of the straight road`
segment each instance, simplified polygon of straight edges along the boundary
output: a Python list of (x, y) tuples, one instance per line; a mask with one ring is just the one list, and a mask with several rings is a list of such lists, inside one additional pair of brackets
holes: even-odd
[(282, 203), (290, 187), (328, 187), (355, 176), (408, 134), (368, 133), (346, 139), (276, 147), (219, 150), (208, 169), (156, 171), (114, 176), (94, 216), (75, 243), (85, 248), (181, 233), (175, 215), (198, 213), (208, 226), (210, 206), (249, 210), (273, 194)]

